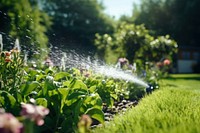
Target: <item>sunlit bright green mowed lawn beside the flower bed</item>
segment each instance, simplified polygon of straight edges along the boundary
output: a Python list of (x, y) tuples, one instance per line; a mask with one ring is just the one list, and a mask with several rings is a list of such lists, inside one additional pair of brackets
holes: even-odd
[(200, 75), (170, 75), (161, 89), (95, 133), (200, 133)]

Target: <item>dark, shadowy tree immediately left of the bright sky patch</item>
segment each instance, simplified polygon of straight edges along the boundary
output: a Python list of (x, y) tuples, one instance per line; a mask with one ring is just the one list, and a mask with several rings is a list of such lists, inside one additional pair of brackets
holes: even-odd
[[(98, 0), (44, 0), (43, 9), (53, 18), (50, 40), (81, 48), (94, 48), (95, 33), (111, 33), (113, 21)], [(54, 45), (59, 45), (55, 43)]]

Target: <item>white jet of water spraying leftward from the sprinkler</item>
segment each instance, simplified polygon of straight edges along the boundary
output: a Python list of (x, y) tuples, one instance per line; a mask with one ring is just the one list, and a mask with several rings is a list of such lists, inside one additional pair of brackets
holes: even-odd
[[(59, 52), (60, 54), (61, 52)], [(68, 51), (61, 55), (61, 63), (58, 64), (62, 70), (64, 68), (78, 68), (84, 70), (92, 70), (96, 74), (101, 74), (115, 79), (122, 79), (128, 82), (133, 82), (144, 87), (149, 87), (147, 83), (139, 79), (132, 73), (123, 71), (122, 69), (106, 65), (104, 62), (95, 59), (91, 56), (77, 54), (75, 51)]]

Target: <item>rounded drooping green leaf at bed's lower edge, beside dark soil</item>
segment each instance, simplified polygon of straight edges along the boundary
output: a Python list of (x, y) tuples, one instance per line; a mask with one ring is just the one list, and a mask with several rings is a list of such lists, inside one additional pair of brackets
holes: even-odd
[(104, 113), (102, 110), (97, 108), (90, 108), (88, 109), (85, 114), (90, 115), (92, 118), (98, 120), (101, 123), (104, 123)]

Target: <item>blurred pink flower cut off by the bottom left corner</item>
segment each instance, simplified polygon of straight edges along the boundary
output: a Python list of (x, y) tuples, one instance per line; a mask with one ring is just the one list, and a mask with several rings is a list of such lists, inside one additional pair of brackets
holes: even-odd
[(0, 133), (22, 133), (23, 125), (10, 113), (0, 113)]

